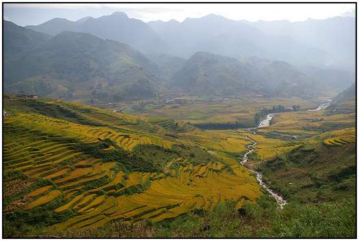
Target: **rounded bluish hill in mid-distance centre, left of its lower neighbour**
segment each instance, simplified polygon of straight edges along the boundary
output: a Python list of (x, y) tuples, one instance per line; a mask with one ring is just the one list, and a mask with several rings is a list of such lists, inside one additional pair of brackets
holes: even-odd
[(245, 91), (261, 92), (261, 79), (254, 79), (251, 69), (237, 59), (196, 53), (173, 77), (175, 87), (189, 93), (233, 95)]

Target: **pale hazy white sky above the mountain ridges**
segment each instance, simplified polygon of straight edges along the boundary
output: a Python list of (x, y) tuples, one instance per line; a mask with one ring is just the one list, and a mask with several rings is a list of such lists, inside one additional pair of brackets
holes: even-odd
[(18, 25), (38, 25), (51, 18), (77, 20), (99, 17), (112, 12), (126, 12), (130, 18), (150, 20), (185, 20), (218, 14), (234, 20), (324, 19), (332, 16), (355, 16), (355, 3), (5, 3), (3, 18)]

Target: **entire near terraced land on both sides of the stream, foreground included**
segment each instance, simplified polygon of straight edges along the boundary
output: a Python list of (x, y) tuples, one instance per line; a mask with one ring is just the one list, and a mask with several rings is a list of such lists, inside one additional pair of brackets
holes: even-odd
[[(61, 100), (4, 99), (5, 236), (354, 235), (355, 113), (295, 111), (256, 133), (203, 131)], [(281, 211), (239, 165), (250, 139), (258, 143), (250, 165), (289, 201)]]

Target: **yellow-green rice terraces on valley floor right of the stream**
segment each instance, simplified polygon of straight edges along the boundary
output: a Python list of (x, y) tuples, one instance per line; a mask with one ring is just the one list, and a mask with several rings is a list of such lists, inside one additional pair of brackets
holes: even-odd
[[(325, 111), (295, 111), (280, 113), (274, 116), (274, 124), (261, 128), (256, 134), (242, 131), (240, 134), (253, 139), (258, 143), (255, 150), (259, 159), (274, 158), (281, 153), (289, 152), (294, 147), (304, 144), (324, 143), (327, 146), (340, 146), (354, 143), (356, 129), (355, 113), (327, 115)], [(348, 128), (347, 128), (348, 127)], [(328, 130), (335, 130), (330, 131)], [(269, 138), (270, 134), (277, 136), (305, 137), (305, 141), (283, 141), (279, 138)]]

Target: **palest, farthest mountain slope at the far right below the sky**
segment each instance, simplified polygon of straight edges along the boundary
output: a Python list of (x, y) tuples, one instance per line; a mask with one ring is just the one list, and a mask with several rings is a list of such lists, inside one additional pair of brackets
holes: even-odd
[(333, 17), (324, 20), (311, 19), (300, 22), (258, 21), (244, 22), (263, 33), (287, 36), (300, 44), (325, 51), (325, 66), (336, 66), (355, 71), (356, 18)]

